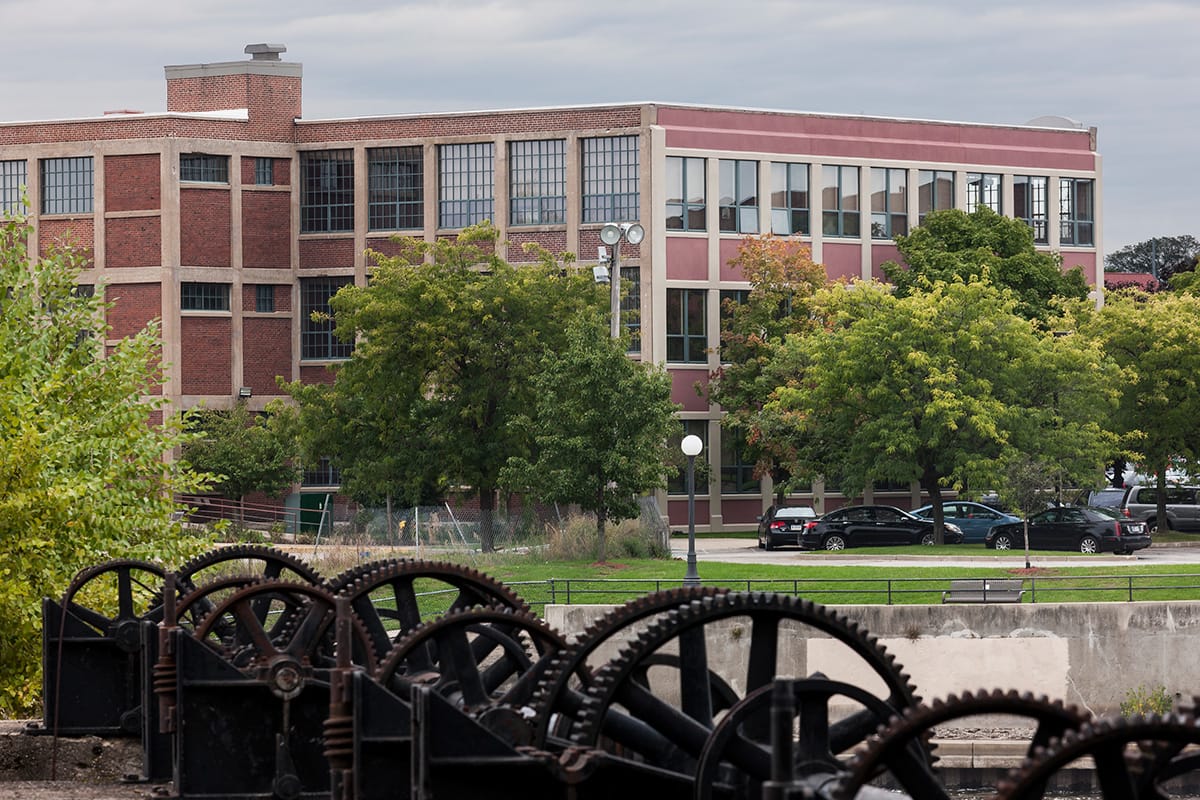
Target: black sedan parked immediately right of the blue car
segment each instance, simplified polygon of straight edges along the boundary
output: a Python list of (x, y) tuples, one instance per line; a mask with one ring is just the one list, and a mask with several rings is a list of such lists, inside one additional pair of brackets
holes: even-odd
[[(1146, 524), (1111, 509), (1061, 506), (1030, 517), (1030, 549), (1080, 553), (1133, 553), (1150, 547)], [(1025, 547), (1022, 523), (996, 525), (984, 545), (997, 551)]]

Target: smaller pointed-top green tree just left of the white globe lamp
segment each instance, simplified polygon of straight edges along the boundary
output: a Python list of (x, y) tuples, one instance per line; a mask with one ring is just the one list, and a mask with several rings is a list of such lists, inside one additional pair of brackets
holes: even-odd
[(547, 503), (576, 504), (596, 516), (596, 558), (606, 559), (605, 523), (632, 519), (637, 498), (666, 486), (667, 446), (678, 432), (671, 377), (634, 361), (596, 314), (581, 314), (566, 348), (547, 353), (534, 377), (532, 457), (514, 457), (502, 482)]

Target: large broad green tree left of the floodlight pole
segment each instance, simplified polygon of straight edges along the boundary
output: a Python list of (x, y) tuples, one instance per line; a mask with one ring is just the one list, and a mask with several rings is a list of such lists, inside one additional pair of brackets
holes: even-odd
[[(534, 264), (508, 264), (487, 223), (454, 241), (398, 245), (395, 257), (373, 255), (368, 285), (330, 301), (336, 335), (355, 349), (328, 390), (292, 387), (305, 449), (323, 441), (323, 455), (376, 495), (473, 487), (480, 546), (491, 551), (500, 469), (530, 445), (511, 421), (534, 407), (542, 354), (562, 349), (568, 320), (604, 297), (566, 257), (538, 251)], [(340, 416), (346, 409), (366, 413)]]

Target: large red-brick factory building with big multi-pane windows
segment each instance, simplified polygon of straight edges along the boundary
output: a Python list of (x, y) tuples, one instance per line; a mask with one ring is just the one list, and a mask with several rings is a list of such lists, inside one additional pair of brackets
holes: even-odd
[[(744, 235), (799, 236), (830, 277), (877, 278), (898, 257), (893, 235), (929, 211), (984, 204), (1103, 285), (1096, 131), (1069, 120), (670, 103), (305, 120), (301, 65), (284, 49), (168, 66), (164, 113), (0, 122), (0, 205), (16, 207), (28, 186), (38, 246), (88, 249), (83, 281), (107, 285), (113, 336), (162, 320), (176, 408), (239, 395), (262, 408), (276, 375), (328, 380), (348, 347), (311, 312), (364, 283), (365, 251), (390, 252), (395, 233), (432, 240), (490, 218), (511, 261), (536, 241), (594, 264), (602, 224), (636, 221), (644, 241), (619, 245), (626, 321), (706, 443), (713, 483), (697, 487), (697, 527), (748, 528), (772, 487), (694, 391), (716, 366), (721, 299), (748, 288), (727, 265)], [(300, 493), (330, 480), (310, 475)], [(686, 519), (678, 489), (666, 497), (674, 524)], [(868, 498), (911, 506), (919, 492)], [(821, 485), (796, 500), (845, 501)]]

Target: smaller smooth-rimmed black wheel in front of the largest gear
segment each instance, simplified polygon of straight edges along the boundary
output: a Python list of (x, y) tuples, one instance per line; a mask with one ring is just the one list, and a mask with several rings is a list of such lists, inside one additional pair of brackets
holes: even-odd
[[(851, 700), (878, 724), (898, 714), (852, 684), (826, 678), (776, 679), (746, 694), (721, 717), (701, 752), (692, 796), (758, 798), (768, 781), (780, 789), (804, 784), (823, 790), (845, 770), (842, 753), (830, 747), (836, 738), (836, 723), (829, 723), (835, 697)], [(908, 750), (918, 762), (928, 762), (920, 742)]]

